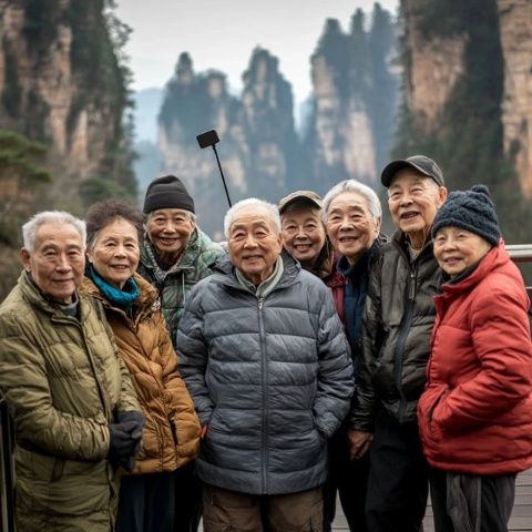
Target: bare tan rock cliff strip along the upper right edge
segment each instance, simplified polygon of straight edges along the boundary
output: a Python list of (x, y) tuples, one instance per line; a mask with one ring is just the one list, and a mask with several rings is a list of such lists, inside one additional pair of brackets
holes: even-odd
[(523, 193), (532, 200), (532, 3), (498, 0), (504, 59), (504, 152), (515, 157)]

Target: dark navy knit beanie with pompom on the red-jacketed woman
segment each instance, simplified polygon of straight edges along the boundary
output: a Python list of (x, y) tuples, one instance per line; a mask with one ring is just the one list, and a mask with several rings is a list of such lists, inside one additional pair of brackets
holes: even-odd
[(470, 191), (451, 192), (436, 214), (432, 238), (441, 227), (461, 227), (497, 246), (501, 229), (488, 187), (474, 185)]

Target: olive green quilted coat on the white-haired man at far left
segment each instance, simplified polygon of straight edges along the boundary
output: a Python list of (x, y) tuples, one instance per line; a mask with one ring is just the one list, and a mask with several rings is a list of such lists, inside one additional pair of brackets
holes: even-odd
[(25, 273), (0, 307), (19, 532), (114, 529), (109, 424), (139, 402), (101, 305), (81, 295), (79, 310), (75, 319), (50, 305)]

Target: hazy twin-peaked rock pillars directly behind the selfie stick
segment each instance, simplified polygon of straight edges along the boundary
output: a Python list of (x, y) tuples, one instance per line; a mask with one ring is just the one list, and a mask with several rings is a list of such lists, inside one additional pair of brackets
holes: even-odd
[(286, 190), (297, 150), (291, 89), (266, 50), (253, 52), (241, 99), (228, 94), (224, 74), (195, 73), (181, 54), (158, 116), (162, 173), (184, 180), (196, 201), (201, 224), (219, 235), (227, 209), (217, 163), (195, 135), (216, 130), (222, 167), (233, 201), (257, 195), (277, 201)]

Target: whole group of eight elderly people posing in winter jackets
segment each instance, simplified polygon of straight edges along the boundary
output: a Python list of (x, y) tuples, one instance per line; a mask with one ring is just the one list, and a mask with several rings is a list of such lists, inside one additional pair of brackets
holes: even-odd
[[(226, 244), (175, 176), (144, 213), (22, 228), (0, 306), (25, 531), (505, 531), (532, 466), (529, 299), (488, 190), (413, 155), (376, 193), (249, 198)], [(227, 253), (226, 253), (227, 250)]]

